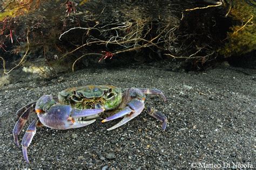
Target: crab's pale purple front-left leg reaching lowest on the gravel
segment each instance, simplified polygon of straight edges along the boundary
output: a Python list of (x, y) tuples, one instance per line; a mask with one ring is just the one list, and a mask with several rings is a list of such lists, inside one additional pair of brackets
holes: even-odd
[(33, 139), (33, 136), (36, 134), (36, 123), (37, 123), (37, 120), (35, 119), (29, 125), (29, 128), (26, 130), (26, 133), (24, 134), (24, 137), (22, 139), (22, 152), (23, 152), (24, 159), (28, 163), (29, 163), (29, 158), (28, 158), (27, 148), (29, 147), (29, 145)]

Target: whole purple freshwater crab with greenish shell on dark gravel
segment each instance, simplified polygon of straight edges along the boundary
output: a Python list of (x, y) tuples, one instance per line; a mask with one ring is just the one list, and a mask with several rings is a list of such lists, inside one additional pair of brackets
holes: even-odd
[[(122, 121), (107, 130), (113, 130), (131, 121), (144, 109), (145, 95), (158, 95), (166, 101), (161, 90), (147, 88), (129, 88), (122, 90), (114, 86), (83, 86), (72, 87), (60, 91), (57, 103), (51, 95), (43, 95), (37, 102), (32, 102), (17, 111), (19, 117), (13, 134), (15, 144), (19, 146), (18, 135), (29, 119), (31, 112), (36, 112), (37, 118), (29, 125), (22, 139), (22, 151), (26, 162), (29, 162), (28, 151), (36, 126), (47, 126), (52, 129), (72, 129), (89, 125), (97, 118), (102, 123), (123, 117)], [(167, 118), (153, 108), (147, 112), (163, 122), (165, 130)]]

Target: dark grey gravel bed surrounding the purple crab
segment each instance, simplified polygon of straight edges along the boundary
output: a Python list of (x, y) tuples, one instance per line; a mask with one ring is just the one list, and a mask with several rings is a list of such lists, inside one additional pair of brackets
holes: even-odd
[[(98, 66), (61, 74), (57, 81), (26, 75), (2, 87), (0, 169), (189, 168), (203, 163), (234, 167), (232, 162), (255, 167), (255, 69), (171, 72), (170, 67), (168, 61), (122, 68)], [(166, 131), (145, 111), (112, 131), (106, 129), (119, 120), (96, 121), (70, 130), (38, 127), (28, 148), (30, 164), (26, 164), (21, 147), (15, 146), (12, 137), (16, 111), (44, 94), (57, 97), (60, 90), (86, 84), (163, 90), (166, 103), (149, 96), (146, 105), (167, 116)], [(35, 116), (32, 114), (29, 122)], [(19, 135), (20, 143), (28, 124)]]

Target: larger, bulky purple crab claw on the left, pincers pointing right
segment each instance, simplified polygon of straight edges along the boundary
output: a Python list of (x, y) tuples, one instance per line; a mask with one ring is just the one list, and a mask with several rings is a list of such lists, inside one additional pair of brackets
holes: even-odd
[(89, 125), (96, 121), (79, 121), (78, 118), (97, 115), (104, 109), (73, 109), (70, 105), (53, 105), (49, 110), (36, 110), (40, 122), (52, 129), (72, 129)]

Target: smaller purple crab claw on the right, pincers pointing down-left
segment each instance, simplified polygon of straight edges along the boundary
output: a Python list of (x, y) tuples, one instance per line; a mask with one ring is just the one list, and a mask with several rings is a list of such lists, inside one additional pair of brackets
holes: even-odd
[(138, 116), (144, 109), (144, 100), (139, 100), (134, 98), (131, 102), (127, 103), (127, 107), (125, 107), (122, 111), (118, 112), (117, 114), (107, 117), (102, 122), (112, 121), (113, 119), (117, 119), (119, 117), (123, 117), (122, 121), (118, 122), (116, 125), (112, 126), (107, 130), (113, 130), (122, 126), (123, 124), (131, 121), (131, 119)]

